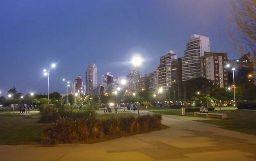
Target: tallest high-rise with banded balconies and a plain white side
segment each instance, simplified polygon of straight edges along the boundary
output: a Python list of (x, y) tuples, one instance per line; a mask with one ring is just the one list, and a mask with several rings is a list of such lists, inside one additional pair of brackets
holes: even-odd
[(186, 43), (186, 50), (182, 58), (182, 80), (198, 78), (200, 74), (200, 57), (210, 51), (209, 37), (191, 35), (191, 40)]

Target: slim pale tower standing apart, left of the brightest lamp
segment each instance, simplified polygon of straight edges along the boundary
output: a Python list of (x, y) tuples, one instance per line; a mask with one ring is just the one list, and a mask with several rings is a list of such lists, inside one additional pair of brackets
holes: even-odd
[(88, 65), (86, 72), (86, 93), (93, 95), (94, 88), (98, 84), (98, 69), (95, 64)]

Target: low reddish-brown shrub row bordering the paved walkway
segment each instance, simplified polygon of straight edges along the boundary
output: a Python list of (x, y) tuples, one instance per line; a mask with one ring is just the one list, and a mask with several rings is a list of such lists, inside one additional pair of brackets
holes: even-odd
[(110, 119), (58, 119), (44, 130), (43, 144), (82, 143), (160, 129), (159, 114)]

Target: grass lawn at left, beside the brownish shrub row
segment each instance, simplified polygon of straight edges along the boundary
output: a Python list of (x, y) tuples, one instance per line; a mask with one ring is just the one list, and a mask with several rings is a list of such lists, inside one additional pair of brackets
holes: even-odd
[(38, 144), (48, 124), (38, 123), (38, 114), (0, 114), (0, 144)]

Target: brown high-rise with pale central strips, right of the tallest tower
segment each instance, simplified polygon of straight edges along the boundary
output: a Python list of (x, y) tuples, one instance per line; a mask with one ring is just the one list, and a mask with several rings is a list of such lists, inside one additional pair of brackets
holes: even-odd
[(206, 52), (201, 56), (201, 76), (214, 81), (217, 88), (227, 88), (227, 53)]

